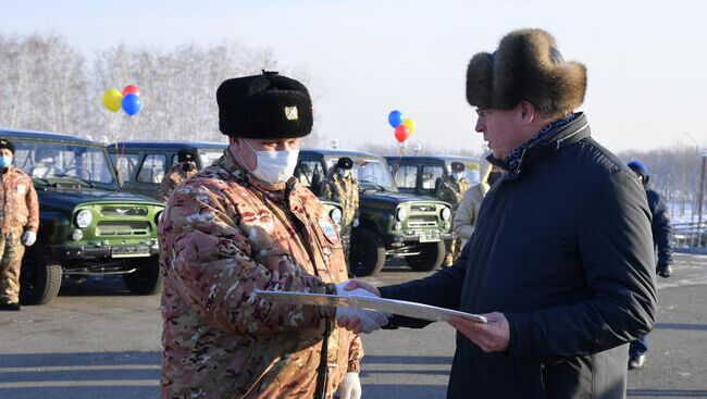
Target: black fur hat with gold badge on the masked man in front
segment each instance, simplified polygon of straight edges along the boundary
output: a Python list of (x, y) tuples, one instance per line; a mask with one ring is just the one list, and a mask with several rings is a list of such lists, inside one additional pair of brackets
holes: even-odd
[(312, 132), (312, 100), (301, 83), (265, 72), (227, 79), (216, 90), (219, 129), (245, 138), (295, 138)]

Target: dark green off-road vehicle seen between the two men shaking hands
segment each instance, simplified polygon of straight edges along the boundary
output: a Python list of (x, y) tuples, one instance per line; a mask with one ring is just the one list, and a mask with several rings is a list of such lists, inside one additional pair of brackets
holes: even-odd
[(351, 233), (349, 272), (376, 274), (388, 258), (405, 258), (415, 271), (442, 265), (452, 238), (451, 208), (434, 198), (399, 192), (383, 157), (364, 152), (302, 149), (295, 176), (319, 194), (340, 157), (354, 161), (359, 182), (359, 226)]

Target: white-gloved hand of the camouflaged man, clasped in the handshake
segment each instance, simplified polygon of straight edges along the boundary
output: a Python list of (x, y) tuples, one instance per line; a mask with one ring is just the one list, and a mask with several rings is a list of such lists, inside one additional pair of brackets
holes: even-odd
[[(377, 288), (370, 284), (349, 280), (339, 283), (336, 286), (336, 295), (348, 297), (351, 295), (359, 297), (380, 297)], [(339, 327), (351, 331), (356, 334), (372, 333), (388, 323), (388, 316), (383, 312), (355, 308), (336, 308), (336, 322)]]

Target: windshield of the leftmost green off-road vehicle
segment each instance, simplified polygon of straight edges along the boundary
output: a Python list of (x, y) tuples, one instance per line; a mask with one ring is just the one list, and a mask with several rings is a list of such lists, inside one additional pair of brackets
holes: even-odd
[[(14, 164), (44, 182), (83, 180), (94, 187), (119, 189), (113, 169), (102, 147), (61, 142), (13, 140)], [(107, 187), (110, 186), (110, 187)]]

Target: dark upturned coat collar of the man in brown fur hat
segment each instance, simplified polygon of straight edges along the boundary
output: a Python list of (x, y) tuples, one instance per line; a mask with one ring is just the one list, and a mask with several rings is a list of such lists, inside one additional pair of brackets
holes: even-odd
[(590, 124), (583, 112), (578, 112), (545, 126), (535, 137), (513, 150), (505, 160), (494, 155), (486, 159), (507, 171), (506, 179), (514, 179), (521, 171), (536, 161), (555, 154), (567, 147), (591, 136)]

